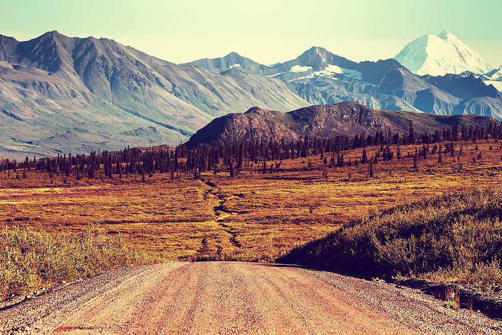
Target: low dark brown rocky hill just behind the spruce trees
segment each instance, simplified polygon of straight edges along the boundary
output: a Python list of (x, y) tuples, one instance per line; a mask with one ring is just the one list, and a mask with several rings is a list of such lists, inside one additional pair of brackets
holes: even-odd
[(434, 133), (436, 130), (476, 125), (488, 128), (495, 119), (478, 115), (442, 116), (403, 111), (379, 111), (357, 102), (310, 106), (280, 113), (253, 107), (247, 112), (228, 114), (214, 119), (197, 131), (187, 148), (200, 144), (217, 145), (242, 140), (297, 140), (300, 136), (333, 138), (338, 135), (374, 134), (376, 131), (408, 132), (413, 122), (415, 132)]

